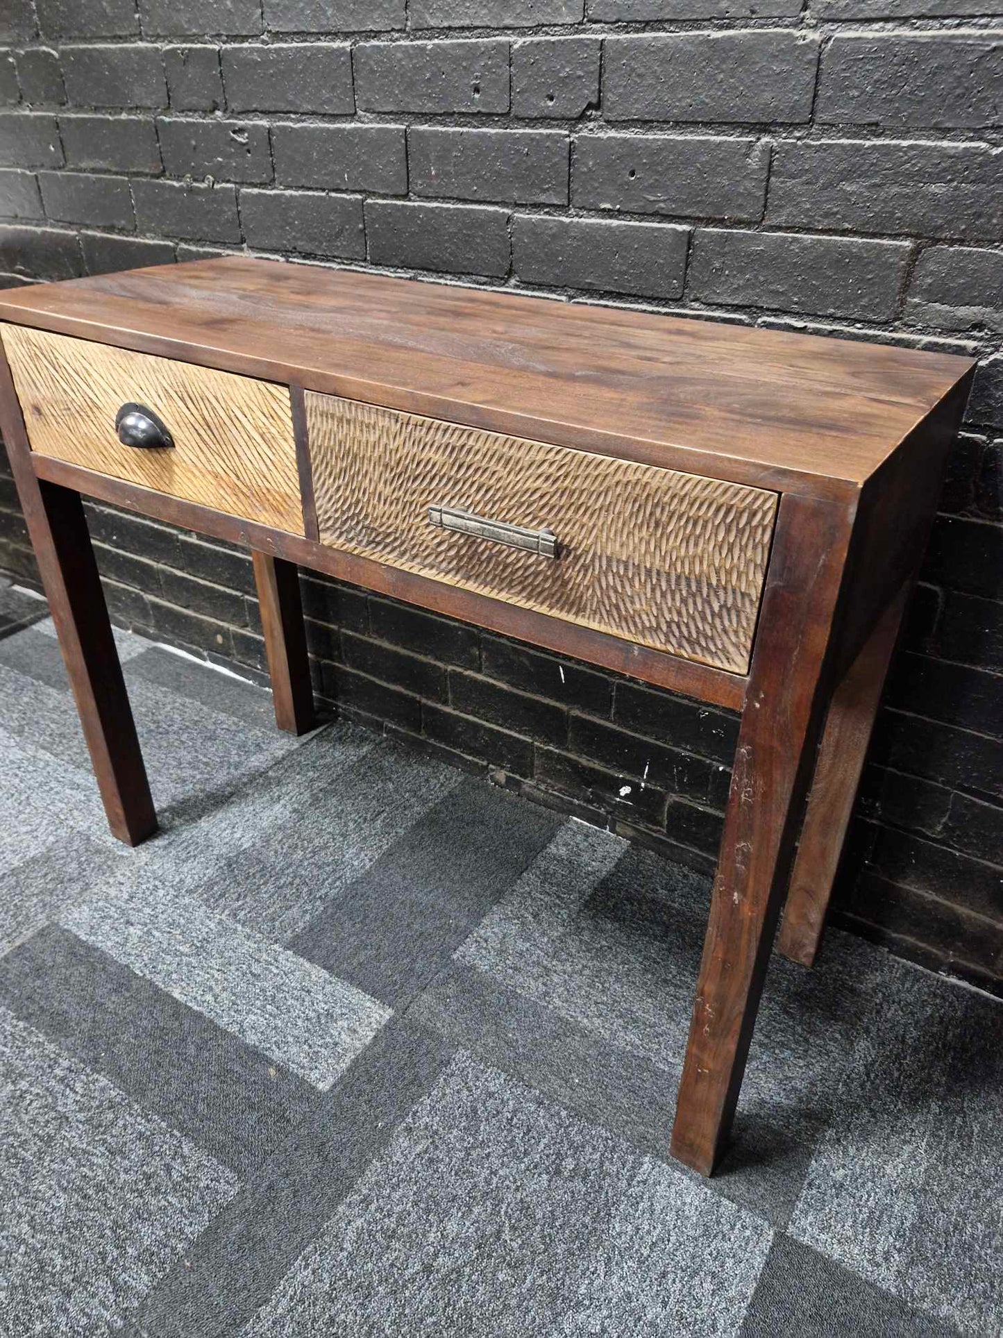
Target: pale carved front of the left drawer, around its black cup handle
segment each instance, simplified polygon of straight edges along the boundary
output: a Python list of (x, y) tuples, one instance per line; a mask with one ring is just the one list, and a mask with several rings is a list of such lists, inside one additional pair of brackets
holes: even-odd
[[(23, 325), (4, 325), (3, 341), (32, 451), (304, 533), (285, 385)], [(174, 446), (123, 446), (126, 403), (152, 409)]]

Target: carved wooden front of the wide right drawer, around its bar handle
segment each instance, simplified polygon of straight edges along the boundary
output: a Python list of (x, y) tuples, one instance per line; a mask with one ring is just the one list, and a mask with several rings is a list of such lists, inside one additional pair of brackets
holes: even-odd
[[(639, 645), (746, 673), (777, 496), (306, 395), (321, 541)], [(551, 530), (558, 557), (429, 507)]]

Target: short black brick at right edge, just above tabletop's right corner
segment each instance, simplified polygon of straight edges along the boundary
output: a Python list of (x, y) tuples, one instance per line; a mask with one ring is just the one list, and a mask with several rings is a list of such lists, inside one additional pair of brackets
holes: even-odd
[(928, 248), (912, 272), (905, 314), (940, 329), (1003, 330), (1003, 252)]

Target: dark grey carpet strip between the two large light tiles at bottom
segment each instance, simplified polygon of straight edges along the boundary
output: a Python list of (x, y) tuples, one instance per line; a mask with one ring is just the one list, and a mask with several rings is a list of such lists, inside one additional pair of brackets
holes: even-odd
[[(449, 1058), (437, 1037), (392, 1018), (312, 1117), (286, 1137), (144, 1298), (134, 1333), (142, 1338), (238, 1334)], [(289, 1333), (305, 1334), (305, 1323), (297, 1317)]]

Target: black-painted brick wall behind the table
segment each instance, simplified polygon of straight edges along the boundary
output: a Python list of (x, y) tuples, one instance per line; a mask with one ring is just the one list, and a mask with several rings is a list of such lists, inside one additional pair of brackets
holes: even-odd
[[(1003, 989), (1000, 0), (0, 0), (0, 45), (4, 282), (247, 249), (979, 355), (840, 904)], [(243, 555), (91, 520), (118, 618), (261, 668)], [(324, 697), (710, 864), (734, 717), (304, 591)]]

